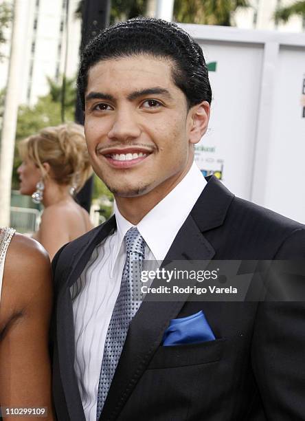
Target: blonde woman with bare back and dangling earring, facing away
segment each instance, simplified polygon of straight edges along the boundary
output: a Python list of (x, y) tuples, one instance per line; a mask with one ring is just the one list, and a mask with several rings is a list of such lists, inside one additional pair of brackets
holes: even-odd
[(46, 127), (19, 142), (23, 160), (17, 170), (20, 192), (44, 206), (41, 226), (34, 234), (53, 259), (68, 241), (92, 228), (89, 214), (74, 200), (91, 175), (84, 129), (70, 123)]

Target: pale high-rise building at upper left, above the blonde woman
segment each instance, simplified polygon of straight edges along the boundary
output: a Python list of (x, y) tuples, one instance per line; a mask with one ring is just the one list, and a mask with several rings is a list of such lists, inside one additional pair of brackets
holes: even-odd
[[(0, 3), (2, 1), (0, 0)], [(28, 7), (27, 14), (23, 17), (26, 21), (24, 43), (20, 45), (23, 66), (19, 69), (21, 78), (19, 104), (34, 105), (38, 96), (43, 96), (49, 91), (47, 77), (60, 82), (65, 69), (66, 46), (66, 76), (76, 75), (81, 22), (74, 16), (78, 0), (69, 1), (68, 25), (66, 25), (67, 0), (25, 1)], [(8, 34), (8, 39), (10, 39), (10, 34)], [(4, 54), (6, 56), (10, 54), (9, 42), (5, 45)], [(8, 59), (4, 59), (0, 63), (0, 89), (5, 87), (7, 76)]]

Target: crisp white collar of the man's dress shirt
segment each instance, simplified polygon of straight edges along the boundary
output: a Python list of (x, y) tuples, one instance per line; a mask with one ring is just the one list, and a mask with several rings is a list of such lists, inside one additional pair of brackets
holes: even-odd
[[(166, 257), (174, 238), (206, 184), (205, 177), (203, 177), (196, 163), (193, 162), (190, 170), (181, 182), (137, 224), (139, 233), (146, 241), (157, 261), (163, 261)], [(179, 209), (179, 212), (177, 212), (177, 209)], [(116, 204), (114, 204), (114, 212), (117, 221), (119, 244), (121, 246), (124, 235), (133, 224), (121, 215)], [(115, 259), (120, 246), (115, 253)]]

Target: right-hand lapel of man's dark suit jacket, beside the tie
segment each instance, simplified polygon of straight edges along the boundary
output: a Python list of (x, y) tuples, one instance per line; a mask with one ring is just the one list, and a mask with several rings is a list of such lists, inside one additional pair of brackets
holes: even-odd
[[(216, 177), (207, 186), (174, 239), (165, 261), (210, 260), (215, 251), (203, 232), (223, 224), (234, 195)], [(156, 280), (153, 282), (154, 286)], [(181, 298), (181, 297), (180, 297)], [(185, 300), (188, 294), (185, 294)], [(115, 420), (160, 345), (163, 333), (185, 301), (143, 301), (128, 330), (100, 421)]]

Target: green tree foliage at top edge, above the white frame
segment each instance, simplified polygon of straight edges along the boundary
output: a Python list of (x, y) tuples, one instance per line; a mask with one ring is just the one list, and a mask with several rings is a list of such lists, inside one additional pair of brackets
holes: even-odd
[(175, 0), (174, 19), (181, 23), (232, 25), (232, 14), (249, 7), (248, 0)]

